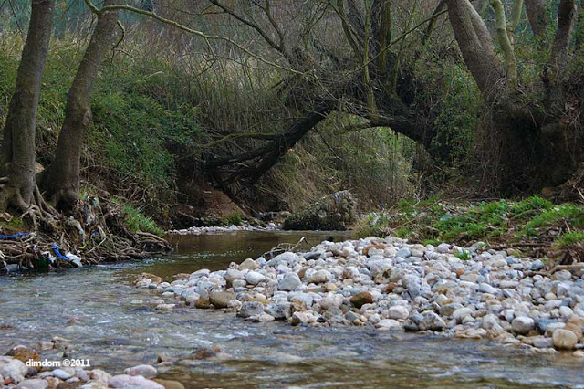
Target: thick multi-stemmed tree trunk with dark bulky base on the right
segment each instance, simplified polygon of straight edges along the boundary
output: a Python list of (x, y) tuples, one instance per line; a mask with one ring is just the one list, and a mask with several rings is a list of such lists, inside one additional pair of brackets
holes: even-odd
[[(509, 22), (500, 0), (491, 0), (496, 16), (496, 38), (502, 60), (497, 57), (482, 17), (469, 0), (446, 0), (454, 36), (464, 62), (490, 107), (484, 110), (482, 125), (489, 144), (494, 145), (485, 159), (486, 170), (501, 189), (538, 189), (561, 184), (582, 161), (582, 139), (563, 119), (567, 94), (566, 53), (575, 13), (574, 0), (558, 5), (558, 27), (551, 55), (540, 63), (545, 88), (539, 101), (529, 100), (518, 85), (514, 32), (521, 15), (516, 0)], [(534, 11), (538, 2), (526, 2)], [(534, 31), (545, 25), (543, 16), (531, 15)], [(536, 21), (539, 21), (536, 23)], [(517, 88), (517, 87), (520, 88)]]

